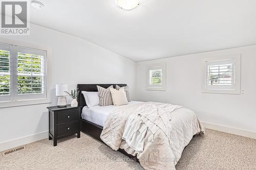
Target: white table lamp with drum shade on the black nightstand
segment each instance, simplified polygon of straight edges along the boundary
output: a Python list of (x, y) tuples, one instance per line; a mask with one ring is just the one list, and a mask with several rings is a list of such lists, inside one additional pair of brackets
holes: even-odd
[(60, 96), (58, 98), (58, 107), (66, 107), (67, 106), (67, 99), (66, 95), (67, 93), (64, 91), (68, 91), (68, 85), (67, 84), (56, 84), (56, 96)]

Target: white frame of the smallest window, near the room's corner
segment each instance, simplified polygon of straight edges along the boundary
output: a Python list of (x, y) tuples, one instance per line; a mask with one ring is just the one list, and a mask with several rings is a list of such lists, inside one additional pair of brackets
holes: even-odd
[[(162, 69), (162, 84), (161, 85), (151, 85), (150, 84), (150, 70), (153, 69)], [(146, 90), (166, 90), (166, 63), (157, 63), (147, 66), (147, 82), (146, 82)]]

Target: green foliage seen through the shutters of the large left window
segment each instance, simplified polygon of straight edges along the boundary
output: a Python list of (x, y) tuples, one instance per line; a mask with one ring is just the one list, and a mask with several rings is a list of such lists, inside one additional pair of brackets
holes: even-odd
[[(40, 55), (18, 53), (17, 59), (18, 94), (42, 93), (44, 58)], [(10, 93), (9, 62), (9, 52), (0, 50), (0, 95)]]

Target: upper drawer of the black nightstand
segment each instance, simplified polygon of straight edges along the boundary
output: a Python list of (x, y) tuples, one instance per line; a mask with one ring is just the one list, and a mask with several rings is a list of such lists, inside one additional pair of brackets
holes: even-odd
[(78, 120), (78, 110), (62, 111), (57, 114), (57, 124)]

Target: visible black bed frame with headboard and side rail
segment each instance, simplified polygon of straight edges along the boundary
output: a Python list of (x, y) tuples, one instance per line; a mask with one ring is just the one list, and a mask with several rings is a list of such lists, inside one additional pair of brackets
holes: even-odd
[[(79, 90), (78, 99), (77, 99), (78, 106), (82, 106), (82, 107), (87, 106), (86, 101), (84, 100), (84, 97), (83, 97), (81, 91), (98, 91), (97, 85), (101, 86), (101, 87), (104, 87), (104, 88), (108, 88), (109, 86), (113, 85), (113, 87), (116, 88), (116, 84), (77, 84), (77, 89)], [(117, 85), (120, 86), (120, 87), (126, 86), (126, 84), (117, 84)], [(81, 107), (81, 109), (82, 109), (82, 107)], [(84, 120), (82, 118), (81, 118), (80, 122), (81, 122), (81, 131), (83, 133), (86, 133), (86, 134), (94, 137), (95, 139), (103, 142), (100, 139), (100, 134), (103, 130), (103, 127), (101, 127), (99, 125), (96, 125), (92, 122), (89, 122), (87, 120)], [(119, 149), (118, 151), (121, 152), (122, 154), (130, 157), (131, 159), (133, 159), (135, 161), (139, 161), (136, 156), (127, 154), (122, 149)]]

